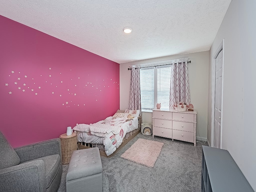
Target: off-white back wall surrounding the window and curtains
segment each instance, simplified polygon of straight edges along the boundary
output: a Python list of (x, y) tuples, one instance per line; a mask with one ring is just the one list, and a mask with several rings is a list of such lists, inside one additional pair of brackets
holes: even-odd
[[(188, 64), (188, 78), (190, 84), (191, 103), (194, 105), (194, 110), (197, 111), (196, 136), (197, 139), (206, 140), (209, 51), (120, 64), (120, 109), (128, 109), (130, 92), (130, 70), (128, 70), (128, 67), (130, 65), (179, 58), (189, 58), (189, 60), (191, 60), (191, 63)], [(152, 113), (143, 112), (142, 122), (152, 122)]]

